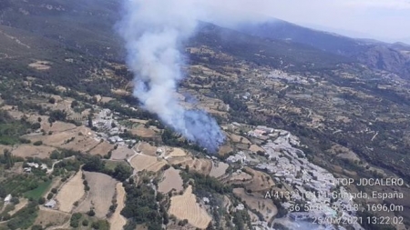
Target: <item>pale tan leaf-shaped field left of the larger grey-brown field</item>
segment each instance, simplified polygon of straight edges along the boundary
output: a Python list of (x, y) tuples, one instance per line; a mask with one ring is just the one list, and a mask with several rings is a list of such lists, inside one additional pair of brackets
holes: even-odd
[(58, 191), (56, 201), (58, 202), (58, 209), (60, 211), (70, 213), (74, 207), (73, 204), (85, 194), (81, 175), (82, 172), (78, 171), (77, 174)]

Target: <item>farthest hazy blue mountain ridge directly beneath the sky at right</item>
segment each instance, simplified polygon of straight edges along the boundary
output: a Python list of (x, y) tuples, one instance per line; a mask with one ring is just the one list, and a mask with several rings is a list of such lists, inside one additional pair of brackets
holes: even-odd
[(376, 41), (354, 39), (305, 28), (282, 20), (272, 20), (259, 25), (241, 25), (236, 29), (249, 35), (312, 45), (333, 54), (353, 57), (374, 68), (404, 76), (410, 74), (410, 59), (402, 52), (404, 45), (388, 45)]

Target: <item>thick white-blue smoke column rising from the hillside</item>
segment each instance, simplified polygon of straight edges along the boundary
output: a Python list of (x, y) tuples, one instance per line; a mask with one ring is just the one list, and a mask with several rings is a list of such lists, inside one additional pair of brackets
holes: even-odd
[(216, 152), (224, 141), (216, 121), (200, 110), (186, 110), (176, 99), (184, 77), (181, 44), (195, 33), (202, 13), (191, 0), (124, 2), (118, 32), (126, 42), (128, 67), (135, 75), (134, 95), (149, 112), (191, 141)]

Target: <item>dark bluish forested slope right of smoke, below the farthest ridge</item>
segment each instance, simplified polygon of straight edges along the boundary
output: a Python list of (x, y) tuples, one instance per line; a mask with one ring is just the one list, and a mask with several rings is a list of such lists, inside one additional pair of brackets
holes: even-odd
[(198, 34), (190, 40), (191, 45), (216, 47), (224, 53), (256, 64), (278, 68), (289, 65), (294, 65), (296, 68), (301, 66), (329, 68), (354, 61), (342, 55), (323, 52), (310, 45), (247, 35), (208, 23), (200, 23), (198, 31)]

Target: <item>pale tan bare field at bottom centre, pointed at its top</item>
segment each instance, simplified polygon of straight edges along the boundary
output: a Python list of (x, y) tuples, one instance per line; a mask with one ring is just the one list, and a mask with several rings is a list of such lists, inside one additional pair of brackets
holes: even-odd
[(200, 207), (196, 201), (196, 196), (192, 194), (192, 187), (189, 186), (183, 195), (171, 197), (169, 214), (175, 215), (178, 219), (187, 219), (190, 225), (206, 228), (210, 224), (211, 217)]

